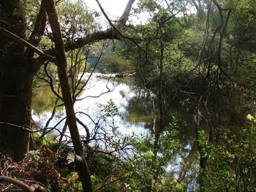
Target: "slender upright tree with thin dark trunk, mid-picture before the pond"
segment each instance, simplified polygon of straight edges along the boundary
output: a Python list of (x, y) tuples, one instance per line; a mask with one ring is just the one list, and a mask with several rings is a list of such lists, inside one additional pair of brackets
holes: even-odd
[[(146, 89), (153, 105), (154, 123), (150, 128), (154, 135), (151, 146), (153, 153), (151, 167), (148, 168), (151, 174), (145, 187), (147, 191), (154, 191), (162, 180), (162, 172), (164, 172), (162, 167), (167, 164), (167, 151), (170, 153), (172, 151), (170, 143), (167, 142), (167, 137), (171, 140), (170, 132), (173, 131), (171, 130), (173, 126), (169, 123), (175, 123), (170, 117), (170, 104), (176, 98), (177, 88), (172, 82), (176, 81), (179, 74), (182, 75), (181, 66), (189, 66), (191, 62), (178, 48), (180, 40), (178, 37), (181, 37), (185, 27), (179, 25), (182, 22), (177, 22), (181, 20), (176, 15), (184, 8), (183, 4), (179, 1), (173, 4), (170, 1), (140, 1), (140, 3), (139, 9), (146, 9), (151, 13), (152, 18), (135, 30), (135, 35), (141, 39), (140, 47), (143, 47), (143, 50), (135, 49), (137, 54), (133, 53), (136, 58), (132, 64), (136, 65), (138, 83)], [(167, 6), (162, 7), (162, 4)], [(162, 147), (163, 140), (165, 147)]]

